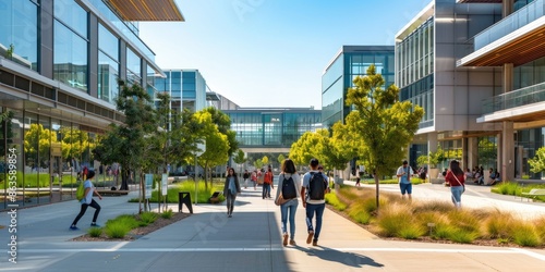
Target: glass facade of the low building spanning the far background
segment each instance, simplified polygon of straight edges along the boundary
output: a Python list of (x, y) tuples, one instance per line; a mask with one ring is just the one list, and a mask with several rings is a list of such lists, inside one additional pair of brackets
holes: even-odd
[(305, 132), (320, 127), (318, 110), (223, 111), (231, 119), (240, 147), (290, 148)]

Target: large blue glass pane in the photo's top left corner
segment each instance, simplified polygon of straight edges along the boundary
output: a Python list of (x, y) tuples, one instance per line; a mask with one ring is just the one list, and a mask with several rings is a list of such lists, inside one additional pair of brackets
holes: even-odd
[(0, 5), (0, 55), (38, 70), (38, 8), (33, 1), (3, 0)]

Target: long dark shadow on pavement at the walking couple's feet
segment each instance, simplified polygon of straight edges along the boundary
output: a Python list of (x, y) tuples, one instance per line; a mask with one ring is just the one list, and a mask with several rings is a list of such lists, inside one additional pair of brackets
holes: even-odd
[(334, 248), (318, 246), (317, 248), (304, 248), (301, 246), (295, 246), (295, 249), (299, 249), (312, 257), (318, 257), (326, 261), (339, 262), (344, 265), (353, 267), (353, 268), (363, 268), (363, 267), (374, 267), (374, 268), (383, 268), (383, 263), (375, 262), (375, 260), (359, 254), (353, 252), (343, 252)]

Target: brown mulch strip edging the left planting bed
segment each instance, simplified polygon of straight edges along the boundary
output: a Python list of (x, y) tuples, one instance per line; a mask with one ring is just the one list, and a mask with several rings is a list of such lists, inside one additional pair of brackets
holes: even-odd
[(131, 232), (129, 232), (128, 235), (125, 235), (124, 238), (109, 238), (105, 232), (102, 232), (102, 235), (100, 237), (90, 237), (87, 233), (73, 238), (72, 240), (75, 242), (116, 242), (116, 240), (134, 240), (137, 239), (146, 234), (153, 233), (164, 226), (170, 225), (172, 223), (175, 223), (182, 219), (185, 219), (190, 217), (190, 213), (181, 213), (181, 212), (174, 212), (172, 214), (171, 219), (164, 219), (159, 217), (153, 224), (149, 224), (147, 226), (141, 226), (133, 228)]

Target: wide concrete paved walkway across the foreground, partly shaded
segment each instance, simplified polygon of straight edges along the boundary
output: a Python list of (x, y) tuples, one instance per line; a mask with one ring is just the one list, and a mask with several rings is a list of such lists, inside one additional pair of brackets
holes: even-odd
[[(487, 196), (485, 187), (469, 186), (464, 207), (517, 208), (522, 214), (544, 213), (543, 203)], [(258, 188), (259, 189), (259, 188)], [(397, 191), (397, 185), (382, 185)], [(489, 188), (488, 188), (489, 189)], [(136, 213), (137, 203), (107, 197), (99, 203), (99, 223), (122, 213)], [(449, 199), (439, 185), (414, 186), (414, 198)], [(172, 205), (178, 209), (178, 205)], [(68, 226), (78, 211), (75, 201), (17, 210), (17, 263), (10, 263), (8, 227), (0, 230), (0, 271), (542, 271), (545, 250), (471, 245), (384, 240), (337, 213), (326, 210), (319, 246), (305, 244), (304, 210), (296, 217), (298, 246), (283, 247), (280, 212), (261, 191), (244, 189), (233, 218), (223, 205), (198, 205), (194, 214), (134, 242), (70, 242), (90, 222), (89, 209), (81, 231)], [(0, 213), (0, 225), (10, 222)]]

